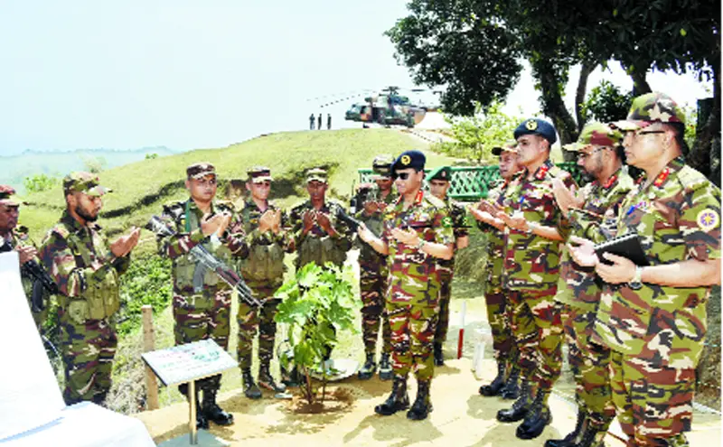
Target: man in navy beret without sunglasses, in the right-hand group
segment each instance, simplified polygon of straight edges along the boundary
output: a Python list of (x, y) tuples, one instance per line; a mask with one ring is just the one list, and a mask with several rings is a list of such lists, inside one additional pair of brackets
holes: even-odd
[(549, 148), (557, 136), (547, 121), (525, 120), (514, 137), (523, 171), (508, 188), (505, 212), (498, 217), (506, 225), (502, 281), (510, 291), (522, 386), (512, 408), (501, 410), (497, 419), (517, 422), (524, 418), (516, 435), (533, 439), (551, 420), (547, 400), (562, 368), (562, 321), (553, 298), (565, 221), (552, 194), (552, 181), (559, 179), (568, 188), (574, 188), (575, 182), (549, 160)]

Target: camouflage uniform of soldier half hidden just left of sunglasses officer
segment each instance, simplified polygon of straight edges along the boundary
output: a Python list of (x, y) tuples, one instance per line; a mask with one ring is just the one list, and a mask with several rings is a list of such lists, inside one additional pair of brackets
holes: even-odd
[[(376, 160), (375, 160), (376, 161)], [(394, 160), (389, 161), (389, 165)], [(368, 192), (367, 200), (374, 200), (389, 205), (399, 197), (393, 189), (389, 191), (386, 197), (381, 198), (379, 187), (371, 185), (371, 191)], [(364, 202), (366, 203), (366, 202)], [(383, 214), (381, 210), (375, 211), (368, 216), (362, 203), (355, 217), (362, 220), (367, 228), (380, 235), (382, 225), (381, 220)], [(361, 242), (361, 241), (360, 241)], [(364, 351), (369, 357), (373, 358), (377, 348), (377, 339), (379, 336), (380, 326), (382, 340), (382, 354), (387, 356), (391, 353), (391, 331), (387, 314), (384, 312), (385, 296), (387, 292), (387, 276), (389, 275), (389, 266), (387, 265), (387, 256), (377, 253), (369, 245), (361, 242), (359, 249), (359, 290), (362, 295), (362, 333), (364, 339)]]

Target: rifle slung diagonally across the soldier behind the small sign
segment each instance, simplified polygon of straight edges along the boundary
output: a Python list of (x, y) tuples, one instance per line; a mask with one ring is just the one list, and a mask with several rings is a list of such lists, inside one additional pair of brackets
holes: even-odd
[[(153, 231), (160, 237), (173, 237), (178, 234), (174, 228), (164, 224), (164, 221), (157, 216), (153, 216), (150, 220), (148, 220), (146, 229)], [(211, 270), (216, 275), (219, 275), (224, 283), (229, 284), (231, 288), (235, 289), (244, 303), (249, 304), (251, 307), (258, 308), (261, 308), (264, 303), (266, 303), (266, 300), (261, 302), (255, 298), (251, 289), (249, 289), (249, 285), (246, 284), (241, 275), (236, 273), (232, 268), (230, 268), (230, 266), (225, 265), (216, 256), (213, 256), (206, 247), (203, 247), (201, 244), (197, 244), (191, 248), (189, 253), (198, 263), (195, 271), (193, 272), (193, 289), (196, 292), (202, 291), (203, 275), (206, 270)]]

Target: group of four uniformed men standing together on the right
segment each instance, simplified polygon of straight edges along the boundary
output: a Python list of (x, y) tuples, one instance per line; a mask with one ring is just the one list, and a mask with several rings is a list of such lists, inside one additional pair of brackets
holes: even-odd
[[(634, 98), (624, 120), (588, 124), (563, 146), (590, 180), (579, 189), (549, 160), (546, 121), (522, 122), (493, 149), (502, 181), (470, 209), (489, 232), (498, 364), (479, 392), (516, 398), (497, 419), (522, 421), (519, 438), (551, 420), (564, 336), (577, 424), (546, 447), (602, 446), (615, 415), (628, 445), (688, 445), (706, 301), (720, 284), (720, 191), (685, 164), (684, 135), (670, 97)], [(622, 252), (606, 251), (616, 243)], [(644, 265), (619, 256), (635, 243)]]

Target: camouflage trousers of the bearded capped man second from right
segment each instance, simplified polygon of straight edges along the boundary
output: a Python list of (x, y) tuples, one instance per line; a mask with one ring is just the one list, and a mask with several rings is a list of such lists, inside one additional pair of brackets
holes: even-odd
[(597, 430), (607, 431), (615, 418), (610, 390), (610, 349), (590, 341), (596, 313), (565, 305), (562, 322), (568, 341), (568, 361), (575, 377), (577, 406), (585, 408)]

